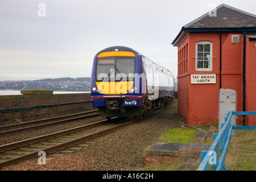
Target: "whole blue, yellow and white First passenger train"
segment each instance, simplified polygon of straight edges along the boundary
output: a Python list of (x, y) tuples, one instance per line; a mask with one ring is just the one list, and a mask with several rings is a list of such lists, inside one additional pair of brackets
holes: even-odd
[(129, 47), (98, 52), (91, 76), (92, 105), (106, 118), (138, 117), (174, 98), (174, 75)]

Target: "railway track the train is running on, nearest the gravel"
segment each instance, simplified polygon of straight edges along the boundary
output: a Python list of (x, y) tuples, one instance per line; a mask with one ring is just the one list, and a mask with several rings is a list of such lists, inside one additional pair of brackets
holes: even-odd
[(5, 144), (0, 146), (0, 169), (2, 167), (16, 164), (22, 160), (36, 158), (39, 151), (52, 154), (53, 152), (64, 150), (65, 148), (75, 146), (90, 139), (106, 135), (120, 127), (152, 117), (152, 115), (159, 113), (167, 107), (131, 121), (123, 121), (119, 118), (112, 118), (110, 121), (105, 119), (103, 121), (75, 127), (73, 129), (22, 140), (20, 142)]

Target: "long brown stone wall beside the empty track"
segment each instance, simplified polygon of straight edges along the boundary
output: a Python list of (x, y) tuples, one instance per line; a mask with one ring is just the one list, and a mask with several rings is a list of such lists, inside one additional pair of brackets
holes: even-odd
[(90, 93), (0, 96), (0, 124), (93, 109)]

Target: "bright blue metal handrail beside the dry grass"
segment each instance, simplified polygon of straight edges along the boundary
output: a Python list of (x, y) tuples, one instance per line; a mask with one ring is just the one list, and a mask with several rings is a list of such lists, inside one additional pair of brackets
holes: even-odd
[[(256, 126), (234, 126), (231, 124), (231, 118), (234, 115), (256, 115), (256, 112), (230, 111), (225, 118), (225, 123), (221, 124), (221, 130), (213, 135), (213, 143), (208, 151), (201, 151), (201, 164), (197, 171), (208, 171), (213, 164), (214, 171), (221, 171), (225, 168), (225, 158), (228, 153), (229, 141), (232, 136), (232, 130), (256, 130)], [(218, 147), (221, 144), (221, 156), (218, 160)]]

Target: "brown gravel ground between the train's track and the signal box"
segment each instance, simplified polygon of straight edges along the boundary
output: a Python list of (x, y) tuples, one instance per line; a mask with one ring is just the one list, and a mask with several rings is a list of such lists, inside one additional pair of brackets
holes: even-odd
[(144, 151), (158, 142), (160, 135), (179, 127), (183, 119), (177, 114), (177, 100), (161, 113), (144, 121), (115, 130), (104, 137), (82, 143), (46, 156), (46, 164), (38, 158), (20, 162), (2, 170), (137, 170), (144, 167)]

